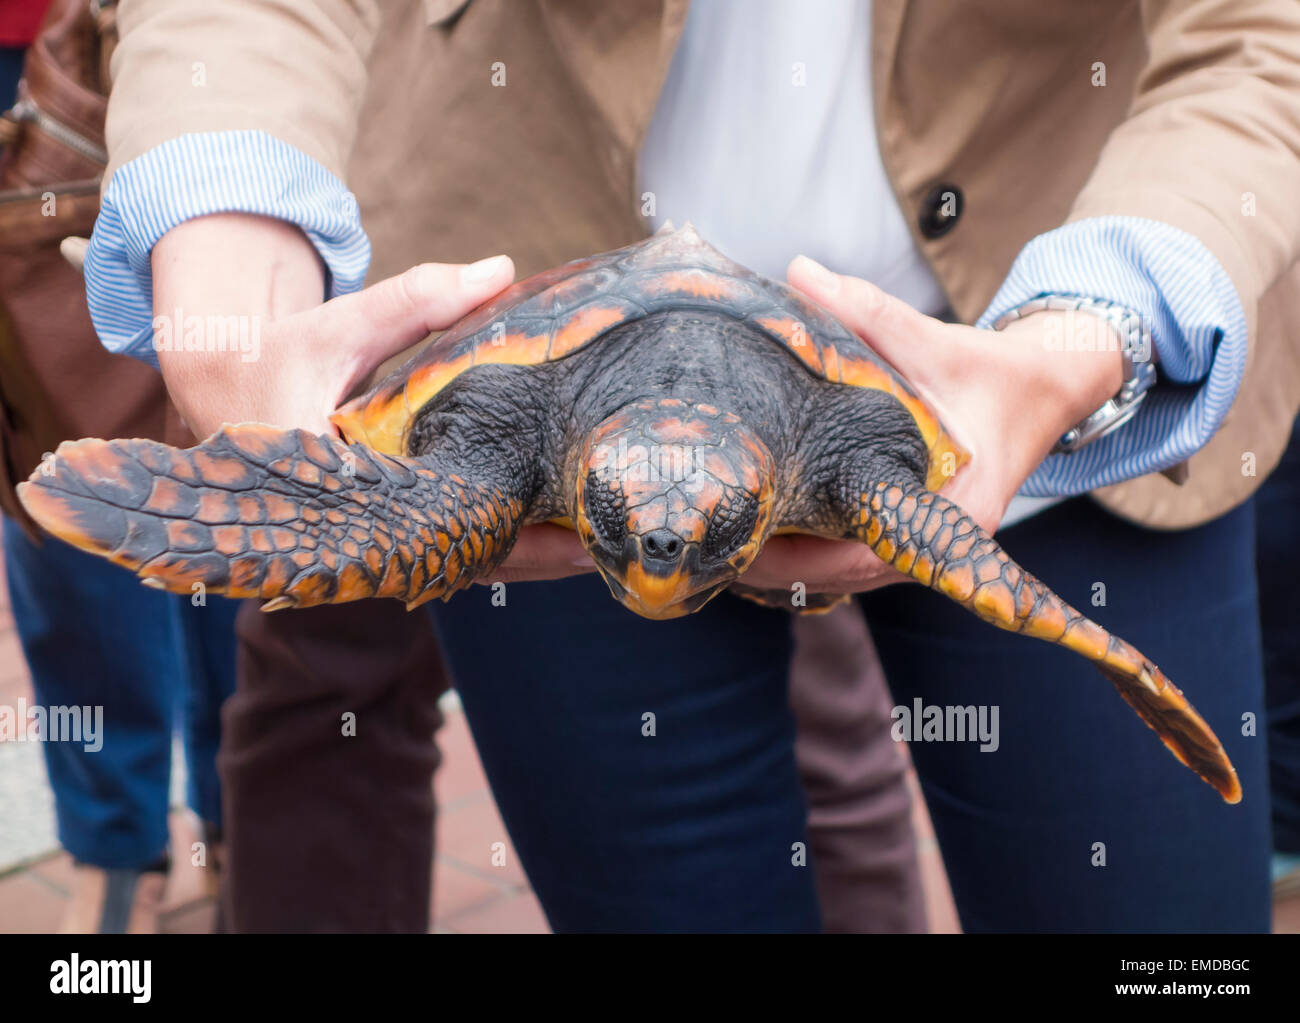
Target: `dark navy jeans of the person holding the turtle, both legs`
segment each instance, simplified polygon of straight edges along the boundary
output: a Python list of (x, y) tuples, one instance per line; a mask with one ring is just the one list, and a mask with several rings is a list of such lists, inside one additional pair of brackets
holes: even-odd
[[(1242, 734), (1243, 714), (1262, 721), (1252, 516), (1153, 533), (1072, 500), (1004, 537), (1187, 692), (1242, 775), (1235, 807), (1076, 655), (919, 586), (863, 602), (900, 703), (1000, 706), (996, 753), (913, 747), (967, 929), (1266, 929), (1265, 738)], [(723, 595), (646, 621), (581, 577), (511, 584), (506, 607), (474, 588), (433, 616), (555, 929), (818, 927), (785, 612)]]

